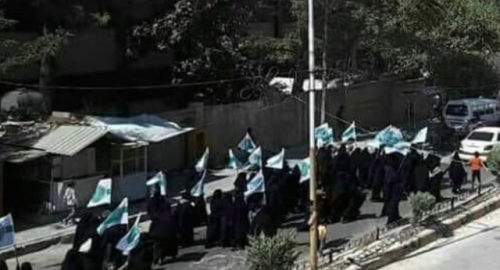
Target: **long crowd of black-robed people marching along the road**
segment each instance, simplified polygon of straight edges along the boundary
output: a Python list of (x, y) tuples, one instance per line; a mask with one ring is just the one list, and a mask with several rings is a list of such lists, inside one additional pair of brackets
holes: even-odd
[[(453, 192), (457, 193), (467, 177), (458, 160), (455, 157), (449, 166)], [(317, 164), (318, 218), (322, 226), (358, 219), (368, 194), (372, 201), (383, 203), (380, 216), (387, 216), (388, 223), (401, 218), (399, 203), (410, 193), (430, 192), (437, 201), (442, 200), (445, 171), (440, 167), (441, 159), (433, 154), (424, 158), (414, 149), (403, 156), (386, 154), (384, 147), (370, 151), (349, 145), (338, 149), (326, 146), (318, 150)], [(128, 257), (115, 248), (128, 231), (126, 225), (113, 226), (99, 235), (96, 229), (109, 212), (102, 216), (83, 213), (62, 269), (118, 269), (127, 264), (127, 269), (149, 270), (154, 264), (175, 260), (179, 247), (194, 245), (194, 229), (200, 226), (207, 227), (206, 248), (234, 250), (244, 249), (249, 236), (275, 235), (290, 214), (303, 214), (304, 222), (298, 229), (307, 230), (309, 182), (301, 181), (299, 167), (262, 168), (262, 173), (264, 193), (246, 197), (247, 183), (256, 172), (241, 172), (233, 191), (216, 190), (212, 194), (209, 213), (204, 196), (184, 192), (180, 200), (173, 201), (153, 188), (147, 202), (149, 232), (141, 234), (139, 245)]]

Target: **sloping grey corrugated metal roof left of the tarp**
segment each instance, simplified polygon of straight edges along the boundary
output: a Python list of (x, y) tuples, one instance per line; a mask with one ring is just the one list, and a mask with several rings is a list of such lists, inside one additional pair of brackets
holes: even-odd
[(41, 138), (33, 147), (52, 154), (73, 156), (107, 132), (105, 127), (60, 126)]

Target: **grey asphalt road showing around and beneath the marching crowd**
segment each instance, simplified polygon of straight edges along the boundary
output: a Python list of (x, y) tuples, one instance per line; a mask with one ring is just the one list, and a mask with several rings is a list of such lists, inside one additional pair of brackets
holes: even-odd
[[(483, 179), (487, 180), (485, 183), (493, 181), (491, 175), (485, 175)], [(450, 188), (448, 187), (447, 181), (443, 183), (443, 195), (444, 197), (451, 196)], [(469, 187), (469, 184), (465, 185), (465, 189)], [(382, 210), (381, 203), (373, 203), (366, 201), (361, 209), (360, 219), (346, 223), (346, 224), (334, 224), (330, 225), (328, 228), (328, 244), (327, 247), (334, 247), (336, 245), (342, 244), (349, 239), (356, 236), (365, 234), (372, 231), (376, 226), (381, 226), (386, 223), (386, 218), (378, 218)], [(410, 205), (407, 201), (403, 201), (400, 204), (401, 215), (409, 215)], [(296, 220), (287, 224), (284, 229), (295, 230), (295, 225), (302, 222), (302, 220)], [(149, 226), (147, 223), (144, 226)], [(144, 228), (147, 229), (147, 228)], [(245, 265), (245, 252), (238, 251), (234, 252), (230, 249), (223, 248), (204, 248), (204, 239), (206, 235), (206, 228), (196, 229), (196, 245), (190, 248), (180, 249), (179, 257), (175, 262), (168, 263), (164, 269), (169, 270), (245, 270), (248, 267)], [(306, 259), (309, 252), (309, 234), (307, 232), (297, 233), (297, 244), (298, 251), (301, 253), (300, 259)], [(69, 244), (59, 244), (49, 247), (40, 252), (27, 254), (20, 258), (20, 261), (31, 262), (35, 269), (42, 270), (56, 270), (60, 269), (60, 264), (64, 259), (66, 251), (70, 248)], [(15, 260), (8, 261), (9, 266), (15, 266)], [(15, 269), (15, 268), (11, 268)], [(406, 268), (405, 268), (406, 269)], [(429, 269), (429, 268), (426, 268)], [(461, 269), (461, 268), (456, 268)], [(483, 268), (477, 268), (483, 269)], [(500, 268), (496, 268), (500, 269)]]

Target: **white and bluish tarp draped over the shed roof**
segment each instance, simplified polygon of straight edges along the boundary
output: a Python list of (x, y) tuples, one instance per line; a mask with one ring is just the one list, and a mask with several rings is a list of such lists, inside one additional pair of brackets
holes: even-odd
[(89, 119), (92, 125), (106, 127), (111, 134), (133, 142), (156, 143), (193, 130), (149, 114), (133, 117), (92, 116)]

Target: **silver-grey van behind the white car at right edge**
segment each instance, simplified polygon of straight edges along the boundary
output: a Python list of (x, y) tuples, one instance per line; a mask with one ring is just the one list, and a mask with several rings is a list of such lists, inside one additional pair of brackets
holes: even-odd
[(467, 135), (480, 126), (496, 126), (500, 122), (500, 103), (484, 98), (450, 100), (444, 107), (443, 119), (456, 133)]

